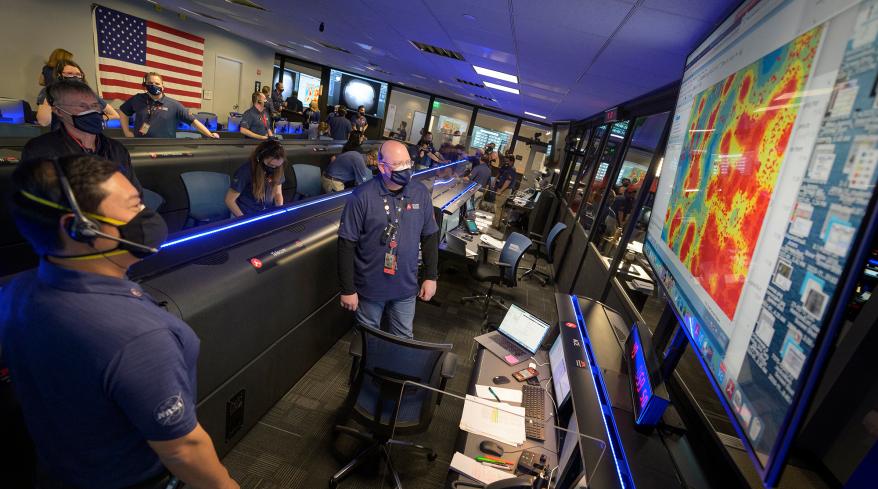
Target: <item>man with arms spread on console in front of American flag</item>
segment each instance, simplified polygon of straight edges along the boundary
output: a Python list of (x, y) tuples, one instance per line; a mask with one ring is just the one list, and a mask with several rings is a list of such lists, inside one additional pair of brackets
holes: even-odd
[[(165, 95), (164, 81), (158, 73), (143, 76), (143, 89), (145, 92), (132, 96), (119, 107), (119, 121), (125, 137), (175, 138), (177, 123), (185, 122), (204, 137), (219, 138), (219, 134), (204, 127), (183, 104)], [(135, 116), (134, 132), (128, 127), (128, 118), (132, 115)]]

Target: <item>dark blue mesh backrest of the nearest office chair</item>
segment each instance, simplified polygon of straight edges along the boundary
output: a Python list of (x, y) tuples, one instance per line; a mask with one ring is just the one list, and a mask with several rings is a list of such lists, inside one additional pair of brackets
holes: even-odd
[(354, 412), (379, 432), (389, 433), (394, 426), (398, 433), (400, 428), (405, 432), (429, 426), (438, 394), (404, 383), (443, 388), (442, 363), (453, 345), (410, 340), (363, 325), (357, 331), (363, 356), (351, 386)]

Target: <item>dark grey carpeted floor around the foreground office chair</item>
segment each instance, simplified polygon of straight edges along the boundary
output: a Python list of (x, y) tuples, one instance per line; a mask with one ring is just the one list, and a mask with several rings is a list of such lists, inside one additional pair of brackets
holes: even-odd
[[(526, 257), (523, 261), (529, 265), (531, 260)], [(545, 270), (544, 263), (540, 269)], [(465, 394), (469, 384), (472, 338), (479, 333), (482, 322), (480, 305), (463, 305), (460, 298), (482, 289), (469, 277), (463, 263), (443, 260), (435, 298), (438, 305), (418, 302), (417, 306), (415, 338), (454, 345), (459, 367), (447, 391), (458, 395)], [(500, 287), (496, 293), (550, 324), (556, 321), (551, 285), (541, 287), (536, 280), (528, 279), (515, 289)], [(499, 322), (502, 316), (502, 310), (492, 308), (492, 321)], [(356, 445), (344, 435), (338, 438), (335, 448), (348, 457), (337, 460), (331, 451), (335, 415), (348, 392), (349, 345), (350, 336), (339, 341), (223, 459), (242, 488), (328, 487), (329, 477), (355, 454)], [(462, 402), (446, 397), (437, 408), (430, 430), (413, 438), (436, 450), (439, 458), (434, 462), (428, 462), (418, 451), (394, 449), (394, 464), (406, 489), (444, 487), (462, 408)], [(391, 487), (382, 482), (381, 465), (376, 459), (339, 487)]]

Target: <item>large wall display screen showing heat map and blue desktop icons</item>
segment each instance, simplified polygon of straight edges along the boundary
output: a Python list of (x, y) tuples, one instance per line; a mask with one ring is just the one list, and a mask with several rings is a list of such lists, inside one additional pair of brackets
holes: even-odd
[(878, 2), (741, 5), (688, 58), (645, 253), (773, 484), (878, 166)]

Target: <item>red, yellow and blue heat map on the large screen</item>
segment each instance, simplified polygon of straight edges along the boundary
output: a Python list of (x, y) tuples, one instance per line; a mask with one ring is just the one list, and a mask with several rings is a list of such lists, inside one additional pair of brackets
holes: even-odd
[(821, 28), (695, 97), (662, 240), (729, 319), (783, 163)]

